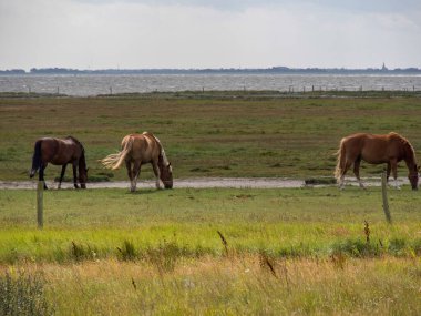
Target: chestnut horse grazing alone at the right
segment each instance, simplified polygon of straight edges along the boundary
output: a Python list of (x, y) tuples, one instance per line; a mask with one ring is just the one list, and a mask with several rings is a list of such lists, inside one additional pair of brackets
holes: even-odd
[(345, 174), (352, 164), (353, 173), (360, 186), (363, 187), (359, 174), (361, 160), (371, 164), (387, 163), (387, 179), (389, 180), (390, 172), (392, 171), (397, 188), (399, 187), (397, 166), (403, 160), (408, 166), (408, 179), (412, 190), (418, 188), (419, 169), (417, 167), (415, 153), (410, 142), (397, 133), (392, 132), (387, 135), (358, 133), (349, 135), (340, 141), (337, 154), (338, 164), (335, 177), (340, 188), (343, 188)]

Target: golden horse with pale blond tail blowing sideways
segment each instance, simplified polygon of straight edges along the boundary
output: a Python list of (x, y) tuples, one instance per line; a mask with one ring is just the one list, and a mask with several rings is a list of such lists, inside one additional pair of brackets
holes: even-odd
[(130, 179), (130, 191), (136, 191), (137, 179), (141, 173), (141, 166), (151, 163), (156, 177), (156, 188), (161, 188), (160, 179), (165, 188), (173, 187), (173, 170), (168, 162), (164, 147), (160, 140), (153, 134), (144, 132), (143, 134), (126, 135), (121, 144), (121, 152), (110, 154), (104, 157), (102, 164), (112, 170), (119, 169), (123, 162), (127, 167)]

